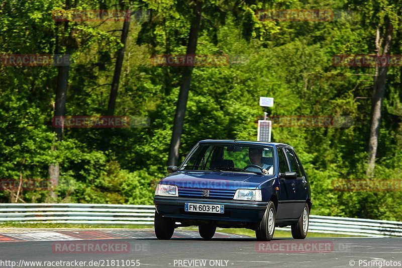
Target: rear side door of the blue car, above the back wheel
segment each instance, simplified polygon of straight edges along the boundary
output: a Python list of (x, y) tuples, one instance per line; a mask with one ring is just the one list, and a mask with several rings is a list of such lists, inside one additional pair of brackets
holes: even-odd
[(294, 180), (295, 183), (295, 202), (294, 202), (294, 213), (295, 218), (302, 215), (303, 209), (306, 204), (306, 200), (309, 196), (308, 183), (306, 176), (303, 173), (302, 166), (300, 165), (296, 153), (293, 149), (285, 147), (286, 156), (290, 164), (290, 169), (296, 172), (297, 178)]

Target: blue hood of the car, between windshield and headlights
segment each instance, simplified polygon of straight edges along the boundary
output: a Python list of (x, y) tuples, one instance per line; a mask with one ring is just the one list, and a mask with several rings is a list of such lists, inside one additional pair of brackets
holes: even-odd
[(273, 175), (257, 175), (241, 172), (191, 172), (180, 171), (163, 178), (161, 184), (176, 185), (178, 188), (196, 189), (256, 189)]

